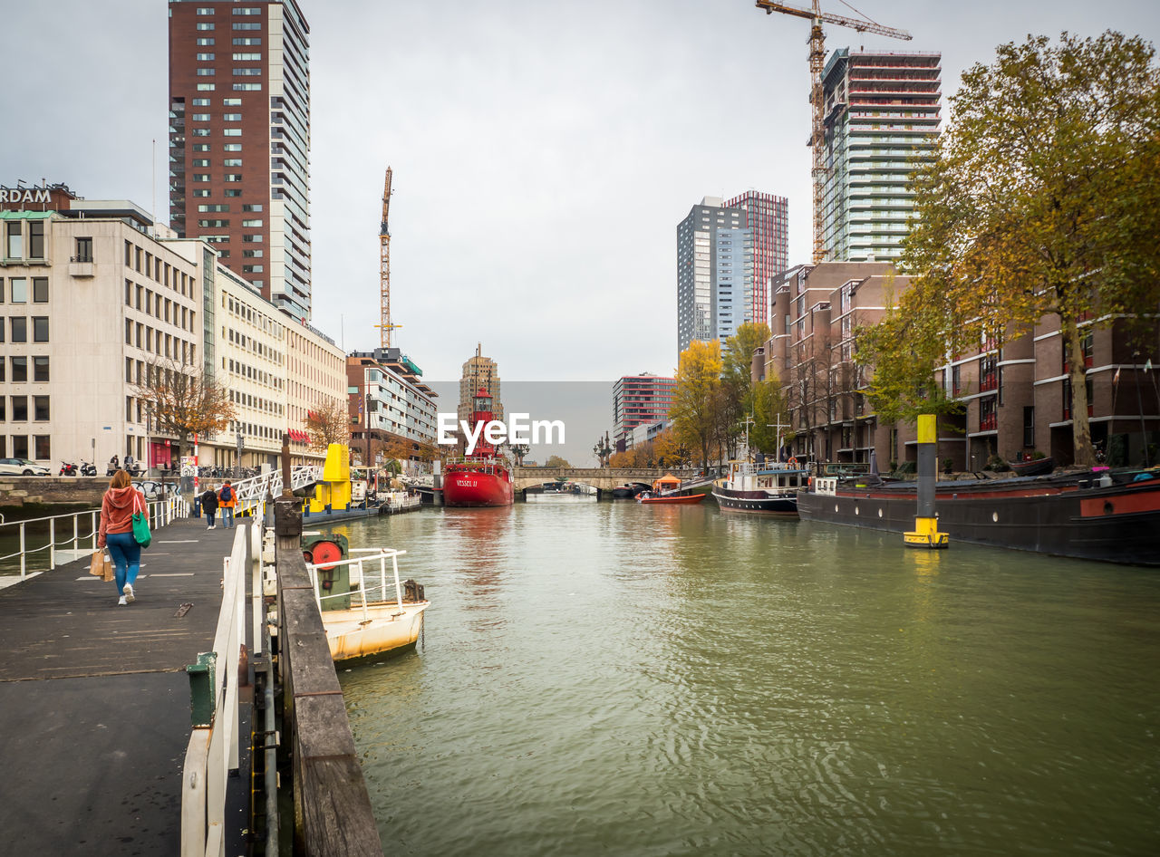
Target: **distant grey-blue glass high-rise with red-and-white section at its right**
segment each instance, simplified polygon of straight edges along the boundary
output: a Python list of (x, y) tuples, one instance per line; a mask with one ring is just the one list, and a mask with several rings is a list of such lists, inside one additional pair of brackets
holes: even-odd
[(789, 254), (784, 197), (704, 197), (676, 227), (676, 347), (767, 321), (769, 281)]

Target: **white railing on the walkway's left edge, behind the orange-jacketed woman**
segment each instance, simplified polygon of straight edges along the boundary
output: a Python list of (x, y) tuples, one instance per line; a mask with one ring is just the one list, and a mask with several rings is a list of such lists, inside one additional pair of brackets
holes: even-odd
[[(165, 526), (174, 518), (189, 515), (189, 504), (181, 496), (147, 501), (145, 504), (148, 507), (150, 528), (154, 530)], [(96, 536), (100, 530), (100, 509), (85, 509), (65, 515), (24, 518), (23, 521), (0, 521), (0, 538), (12, 538), (13, 533), (16, 538), (16, 550), (0, 555), (0, 567), (9, 565), (10, 560), (17, 560), (20, 579), (24, 580), (30, 571), (29, 560), (37, 558), (38, 554), (46, 555), (48, 567), (34, 567), (31, 568), (34, 573), (52, 571), (58, 565), (66, 565), (80, 559), (80, 553), (97, 550)], [(48, 522), (48, 533), (41, 532), (44, 529), (44, 522)], [(67, 559), (58, 561), (60, 559), (57, 555), (58, 551), (67, 555)]]

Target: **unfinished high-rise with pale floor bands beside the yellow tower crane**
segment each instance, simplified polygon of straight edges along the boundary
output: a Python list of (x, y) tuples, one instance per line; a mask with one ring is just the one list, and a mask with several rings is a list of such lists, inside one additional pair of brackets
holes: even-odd
[[(913, 211), (908, 174), (933, 157), (942, 55), (834, 51), (822, 72), (826, 261), (892, 261)], [(819, 212), (814, 212), (818, 217)]]

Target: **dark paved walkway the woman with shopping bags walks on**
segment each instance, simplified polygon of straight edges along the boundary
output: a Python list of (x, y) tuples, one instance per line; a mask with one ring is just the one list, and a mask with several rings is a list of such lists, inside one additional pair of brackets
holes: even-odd
[[(237, 531), (200, 520), (155, 531), (129, 607), (87, 560), (0, 590), (0, 851), (180, 851), (184, 668), (213, 644)], [(240, 733), (245, 746), (248, 718)], [(248, 770), (231, 779), (248, 785)], [(245, 804), (232, 804), (227, 855), (245, 852)]]

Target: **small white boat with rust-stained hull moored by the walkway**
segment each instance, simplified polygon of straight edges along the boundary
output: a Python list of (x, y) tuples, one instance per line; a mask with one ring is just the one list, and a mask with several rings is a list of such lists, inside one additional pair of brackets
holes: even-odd
[(399, 557), (406, 551), (356, 549), (351, 553), (362, 555), (306, 564), (331, 658), (338, 662), (413, 648), (430, 602), (419, 583), (399, 581)]

